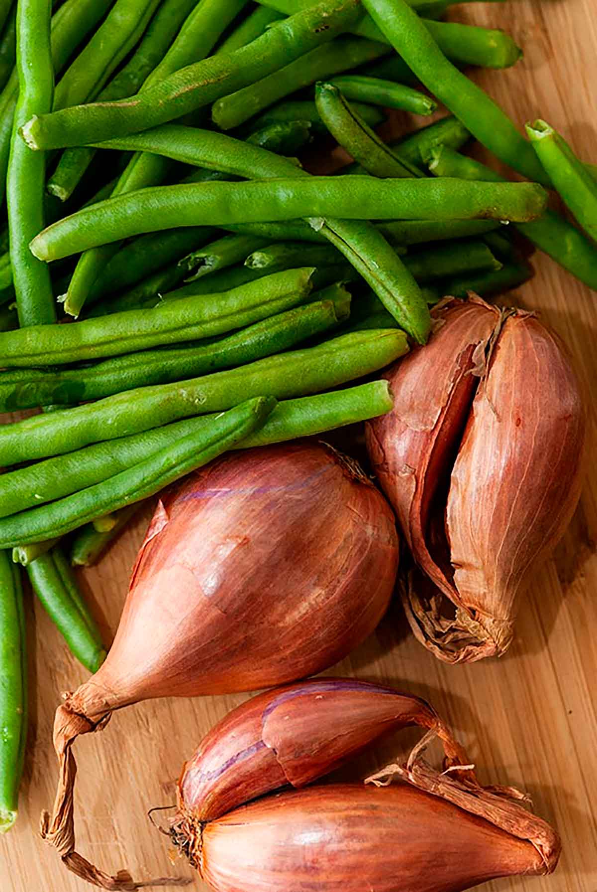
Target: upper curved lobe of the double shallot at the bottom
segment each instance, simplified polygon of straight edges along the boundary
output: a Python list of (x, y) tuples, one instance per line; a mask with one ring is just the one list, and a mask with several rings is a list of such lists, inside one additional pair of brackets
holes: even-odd
[[(383, 734), (410, 725), (435, 730), (451, 760), (463, 758), (431, 706), (392, 688), (323, 678), (266, 691), (203, 738), (178, 781), (173, 823), (192, 831), (273, 789), (303, 787)], [(184, 833), (178, 830), (179, 841)]]

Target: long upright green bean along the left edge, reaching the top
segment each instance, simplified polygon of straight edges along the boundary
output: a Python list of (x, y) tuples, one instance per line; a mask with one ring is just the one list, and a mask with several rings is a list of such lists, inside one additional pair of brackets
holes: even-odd
[(17, 9), (19, 100), (14, 112), (6, 185), (12, 281), (21, 326), (46, 325), (56, 319), (50, 273), (29, 251), (29, 242), (45, 225), (46, 158), (28, 151), (18, 128), (32, 114), (43, 114), (52, 108), (51, 3), (19, 0)]

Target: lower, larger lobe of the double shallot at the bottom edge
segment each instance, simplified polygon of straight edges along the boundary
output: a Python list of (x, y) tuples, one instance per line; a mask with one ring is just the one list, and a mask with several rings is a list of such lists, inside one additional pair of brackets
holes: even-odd
[(406, 784), (338, 784), (208, 823), (197, 866), (214, 892), (460, 892), (550, 872), (557, 856), (546, 863), (531, 842)]

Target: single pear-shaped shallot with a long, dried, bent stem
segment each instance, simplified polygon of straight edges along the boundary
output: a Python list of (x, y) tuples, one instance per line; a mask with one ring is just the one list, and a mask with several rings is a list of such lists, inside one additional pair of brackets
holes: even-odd
[(372, 632), (398, 566), (394, 516), (361, 469), (322, 443), (231, 453), (164, 495), (104, 665), (56, 711), (60, 781), (42, 833), (74, 851), (70, 747), (115, 709), (256, 690), (315, 674)]

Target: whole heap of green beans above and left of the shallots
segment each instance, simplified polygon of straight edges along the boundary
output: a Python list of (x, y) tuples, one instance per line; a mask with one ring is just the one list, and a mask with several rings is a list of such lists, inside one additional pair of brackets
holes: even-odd
[[(90, 566), (224, 450), (392, 409), (361, 379), (427, 342), (446, 293), (526, 282), (514, 228), (597, 290), (592, 165), (468, 78), (521, 50), (451, 4), (0, 0), (0, 411), (43, 409), (0, 425), (0, 831), (27, 732), (21, 567), (95, 672), (65, 554)], [(462, 154), (473, 137), (530, 182)], [(311, 175), (303, 150), (330, 141), (352, 162)]]

